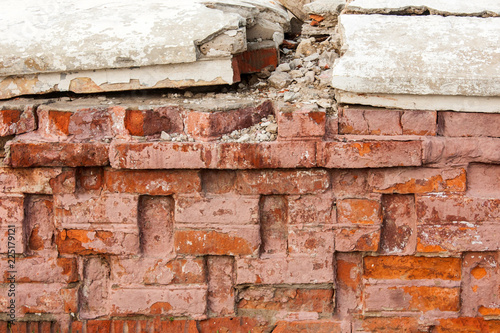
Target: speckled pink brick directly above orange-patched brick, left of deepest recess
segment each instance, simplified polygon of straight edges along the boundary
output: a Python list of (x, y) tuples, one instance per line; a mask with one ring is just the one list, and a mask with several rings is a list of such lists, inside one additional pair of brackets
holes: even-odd
[(139, 196), (133, 194), (58, 194), (54, 196), (57, 227), (91, 224), (136, 225)]

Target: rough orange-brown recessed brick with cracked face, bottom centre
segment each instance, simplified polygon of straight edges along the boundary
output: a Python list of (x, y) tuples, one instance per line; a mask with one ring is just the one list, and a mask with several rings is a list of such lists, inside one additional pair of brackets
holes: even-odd
[(238, 310), (271, 310), (287, 312), (333, 312), (332, 288), (294, 288), (261, 286), (238, 293)]

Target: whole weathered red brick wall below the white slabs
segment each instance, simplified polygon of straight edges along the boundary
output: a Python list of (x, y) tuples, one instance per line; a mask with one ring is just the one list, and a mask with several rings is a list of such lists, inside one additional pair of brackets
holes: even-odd
[(0, 107), (13, 332), (500, 332), (500, 115), (69, 104)]

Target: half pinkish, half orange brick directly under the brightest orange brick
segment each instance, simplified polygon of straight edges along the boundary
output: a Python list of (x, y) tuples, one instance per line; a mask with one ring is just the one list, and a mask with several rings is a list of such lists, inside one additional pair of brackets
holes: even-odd
[(460, 288), (366, 285), (365, 311), (458, 311)]

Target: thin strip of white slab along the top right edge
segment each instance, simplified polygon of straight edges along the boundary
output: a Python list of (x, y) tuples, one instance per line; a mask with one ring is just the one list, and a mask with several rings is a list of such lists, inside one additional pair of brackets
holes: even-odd
[(421, 14), (426, 10), (434, 15), (499, 16), (498, 0), (354, 0), (347, 12), (360, 14)]

